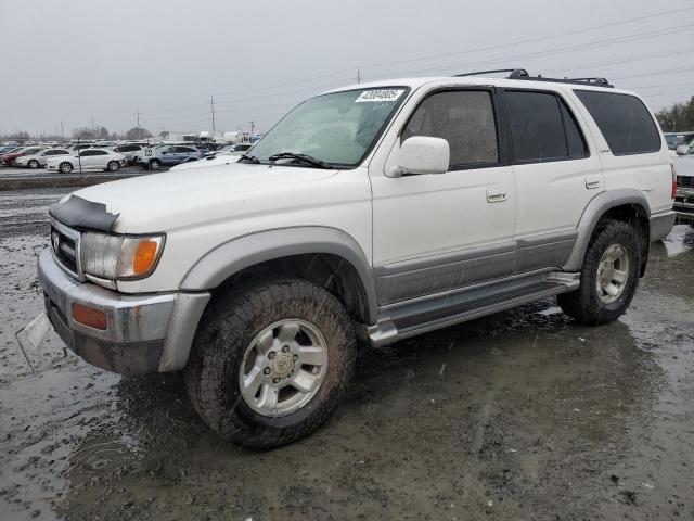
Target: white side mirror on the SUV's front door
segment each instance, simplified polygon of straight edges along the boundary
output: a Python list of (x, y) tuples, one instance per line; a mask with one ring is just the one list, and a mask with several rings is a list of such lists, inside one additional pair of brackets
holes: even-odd
[(450, 158), (451, 150), (447, 140), (413, 136), (402, 142), (400, 150), (396, 153), (395, 166), (386, 170), (386, 176), (446, 174)]

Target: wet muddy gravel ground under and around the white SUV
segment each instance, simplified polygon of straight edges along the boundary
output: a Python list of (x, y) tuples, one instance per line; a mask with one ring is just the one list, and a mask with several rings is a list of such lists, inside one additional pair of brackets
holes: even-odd
[(197, 419), (178, 374), (119, 377), (52, 335), (35, 262), (61, 191), (0, 198), (0, 519), (694, 519), (694, 230), (654, 244), (628, 314), (553, 301), (364, 351), (318, 433), (266, 453)]

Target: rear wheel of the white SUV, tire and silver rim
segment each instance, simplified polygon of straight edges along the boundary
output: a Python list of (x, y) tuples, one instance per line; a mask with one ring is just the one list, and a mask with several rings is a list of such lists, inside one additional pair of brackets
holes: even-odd
[(604, 220), (588, 245), (579, 289), (557, 295), (557, 303), (565, 314), (587, 326), (617, 320), (637, 291), (641, 263), (634, 227)]

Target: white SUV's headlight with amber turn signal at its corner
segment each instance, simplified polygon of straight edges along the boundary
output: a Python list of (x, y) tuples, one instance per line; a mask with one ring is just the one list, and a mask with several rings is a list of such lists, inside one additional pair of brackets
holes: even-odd
[(107, 280), (141, 279), (156, 267), (164, 236), (123, 237), (82, 233), (79, 257), (82, 270)]

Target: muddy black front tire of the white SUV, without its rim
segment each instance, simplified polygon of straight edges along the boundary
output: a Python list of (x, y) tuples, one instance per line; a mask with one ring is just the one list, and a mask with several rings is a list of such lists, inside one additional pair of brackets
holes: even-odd
[[(252, 340), (286, 318), (307, 320), (321, 331), (327, 344), (327, 373), (304, 407), (273, 418), (258, 415), (244, 402), (239, 370)], [(311, 434), (327, 420), (351, 379), (355, 356), (352, 321), (332, 294), (303, 279), (252, 280), (218, 294), (207, 306), (185, 384), (195, 410), (220, 436), (246, 447), (272, 448)]]

